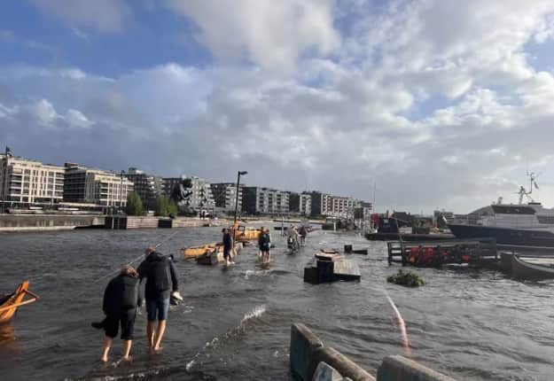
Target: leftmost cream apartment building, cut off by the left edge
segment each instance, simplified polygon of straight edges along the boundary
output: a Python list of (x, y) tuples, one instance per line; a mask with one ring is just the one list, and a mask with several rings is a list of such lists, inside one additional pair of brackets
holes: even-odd
[(0, 156), (0, 199), (4, 204), (58, 204), (64, 196), (64, 167)]

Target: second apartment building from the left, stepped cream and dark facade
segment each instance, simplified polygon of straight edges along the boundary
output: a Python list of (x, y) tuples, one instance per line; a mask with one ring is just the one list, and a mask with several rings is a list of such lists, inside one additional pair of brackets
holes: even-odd
[(93, 203), (99, 206), (127, 206), (133, 183), (123, 173), (81, 167), (66, 163), (64, 201)]

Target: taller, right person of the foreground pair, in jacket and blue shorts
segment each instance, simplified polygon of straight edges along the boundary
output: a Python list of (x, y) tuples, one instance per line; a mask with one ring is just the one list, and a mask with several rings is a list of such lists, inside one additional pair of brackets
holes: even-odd
[[(138, 276), (141, 284), (146, 278), (144, 293), (148, 315), (146, 335), (152, 351), (159, 352), (168, 320), (170, 294), (172, 291), (179, 291), (179, 283), (175, 265), (168, 257), (156, 252), (152, 247), (148, 247), (144, 253), (146, 259), (138, 267)], [(158, 320), (158, 327), (154, 332), (156, 320)]]

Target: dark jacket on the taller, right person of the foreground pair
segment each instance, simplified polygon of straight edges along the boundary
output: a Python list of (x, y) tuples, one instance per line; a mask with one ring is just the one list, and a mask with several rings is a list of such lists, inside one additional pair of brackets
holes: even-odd
[(137, 271), (141, 282), (146, 278), (146, 299), (168, 299), (172, 290), (179, 290), (173, 262), (158, 252), (150, 253)]

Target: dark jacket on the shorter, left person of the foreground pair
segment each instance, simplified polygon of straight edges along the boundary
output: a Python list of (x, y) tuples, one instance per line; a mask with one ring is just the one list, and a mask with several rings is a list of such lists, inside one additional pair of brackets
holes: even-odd
[(141, 304), (139, 280), (129, 275), (114, 277), (105, 287), (102, 309), (105, 315), (119, 315), (122, 310), (136, 308)]

